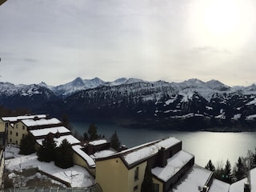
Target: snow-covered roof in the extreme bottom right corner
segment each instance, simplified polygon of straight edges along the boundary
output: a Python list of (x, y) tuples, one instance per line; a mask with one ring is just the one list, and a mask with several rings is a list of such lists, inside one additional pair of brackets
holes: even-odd
[[(247, 178), (244, 178), (238, 182), (234, 182), (230, 185), (229, 192), (240, 192), (244, 189), (244, 183), (247, 182)], [(250, 192), (256, 192), (256, 168), (250, 170)]]

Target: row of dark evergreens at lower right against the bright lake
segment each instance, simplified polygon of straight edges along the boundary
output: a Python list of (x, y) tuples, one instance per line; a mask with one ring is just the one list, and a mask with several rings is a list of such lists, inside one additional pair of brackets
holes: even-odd
[(238, 162), (232, 169), (230, 161), (227, 159), (226, 164), (223, 162), (217, 162), (216, 166), (209, 160), (206, 164), (206, 169), (214, 172), (214, 178), (217, 178), (223, 182), (233, 183), (248, 177), (249, 171), (256, 167), (256, 149), (247, 151), (246, 157), (239, 157)]

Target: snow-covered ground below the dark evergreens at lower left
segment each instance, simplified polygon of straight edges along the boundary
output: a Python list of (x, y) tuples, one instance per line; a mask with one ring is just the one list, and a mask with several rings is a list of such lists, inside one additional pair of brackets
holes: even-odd
[[(47, 174), (51, 174), (56, 178), (60, 178), (65, 182), (69, 182), (72, 187), (87, 187), (94, 185), (94, 178), (90, 176), (85, 168), (81, 166), (73, 166), (68, 169), (62, 169), (54, 165), (54, 162), (39, 162), (36, 154), (20, 155), (19, 148), (16, 146), (6, 146), (5, 167), (10, 171), (10, 178), (14, 177), (14, 171), (21, 171), (30, 168), (38, 168)], [(41, 177), (42, 174), (37, 174)], [(45, 176), (42, 176), (45, 177)], [(54, 181), (53, 181), (54, 182)]]

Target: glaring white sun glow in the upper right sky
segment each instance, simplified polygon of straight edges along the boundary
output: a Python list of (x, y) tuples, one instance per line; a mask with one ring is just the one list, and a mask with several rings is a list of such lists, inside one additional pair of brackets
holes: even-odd
[(250, 0), (191, 2), (189, 25), (194, 42), (204, 46), (239, 49), (252, 37), (255, 10)]

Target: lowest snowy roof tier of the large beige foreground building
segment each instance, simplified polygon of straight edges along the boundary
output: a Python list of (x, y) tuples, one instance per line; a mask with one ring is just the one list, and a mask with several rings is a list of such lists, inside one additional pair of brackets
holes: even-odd
[[(201, 166), (194, 165), (173, 187), (172, 192), (199, 191), (199, 186), (205, 186), (212, 172)], [(220, 192), (220, 191), (219, 191)]]

